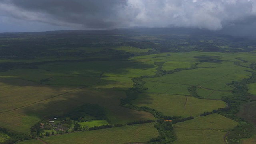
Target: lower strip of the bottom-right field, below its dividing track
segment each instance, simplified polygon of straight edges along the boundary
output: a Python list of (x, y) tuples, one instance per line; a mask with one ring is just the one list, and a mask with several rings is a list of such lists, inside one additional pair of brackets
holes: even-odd
[(219, 130), (187, 130), (174, 128), (177, 140), (173, 144), (225, 144), (226, 132)]

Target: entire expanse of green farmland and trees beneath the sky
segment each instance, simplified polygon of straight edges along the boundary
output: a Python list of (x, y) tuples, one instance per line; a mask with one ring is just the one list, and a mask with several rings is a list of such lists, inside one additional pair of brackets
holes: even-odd
[(225, 144), (253, 134), (243, 129), (256, 125), (253, 42), (117, 31), (31, 36), (42, 46), (2, 36), (0, 143)]

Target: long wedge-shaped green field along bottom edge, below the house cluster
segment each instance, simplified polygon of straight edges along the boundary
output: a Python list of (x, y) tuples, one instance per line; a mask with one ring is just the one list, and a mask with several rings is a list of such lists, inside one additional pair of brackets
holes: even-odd
[(157, 136), (158, 131), (154, 128), (154, 123), (149, 123), (49, 136), (42, 140), (48, 144), (122, 144), (148, 142)]

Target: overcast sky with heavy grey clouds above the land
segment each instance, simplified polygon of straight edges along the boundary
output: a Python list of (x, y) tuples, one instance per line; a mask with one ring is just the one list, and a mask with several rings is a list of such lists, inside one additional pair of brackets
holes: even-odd
[(0, 0), (0, 32), (137, 26), (252, 33), (256, 0)]

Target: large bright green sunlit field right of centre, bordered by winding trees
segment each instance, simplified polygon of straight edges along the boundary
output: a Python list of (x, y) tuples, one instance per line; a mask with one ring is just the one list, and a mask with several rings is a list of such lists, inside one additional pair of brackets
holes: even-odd
[[(204, 88), (210, 88), (214, 90), (223, 90), (227, 87), (226, 83), (230, 83), (234, 80), (239, 81), (244, 78), (248, 78), (247, 75), (250, 75), (250, 73), (235, 69), (233, 69), (231, 72), (228, 70), (225, 71), (216, 68), (199, 68), (194, 70), (184, 70), (174, 74), (166, 74), (156, 78), (146, 78), (144, 80), (146, 83), (163, 83), (165, 84), (164, 88), (170, 88), (174, 84), (183, 84), (188, 86), (202, 86)], [(231, 90), (231, 88), (228, 90)]]

